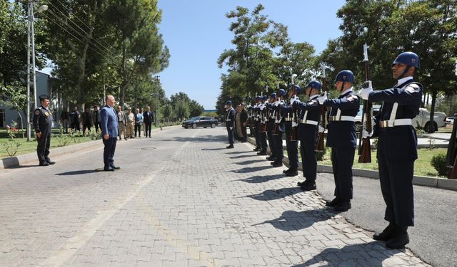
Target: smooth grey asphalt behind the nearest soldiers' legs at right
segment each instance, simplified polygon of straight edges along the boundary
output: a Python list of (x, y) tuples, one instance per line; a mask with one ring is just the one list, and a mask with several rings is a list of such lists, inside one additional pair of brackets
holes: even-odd
[[(333, 199), (333, 174), (319, 174), (318, 192)], [(385, 205), (378, 179), (354, 177), (352, 209), (342, 215), (356, 226), (382, 231)], [(414, 186), (415, 227), (408, 248), (433, 266), (457, 266), (457, 192)]]

